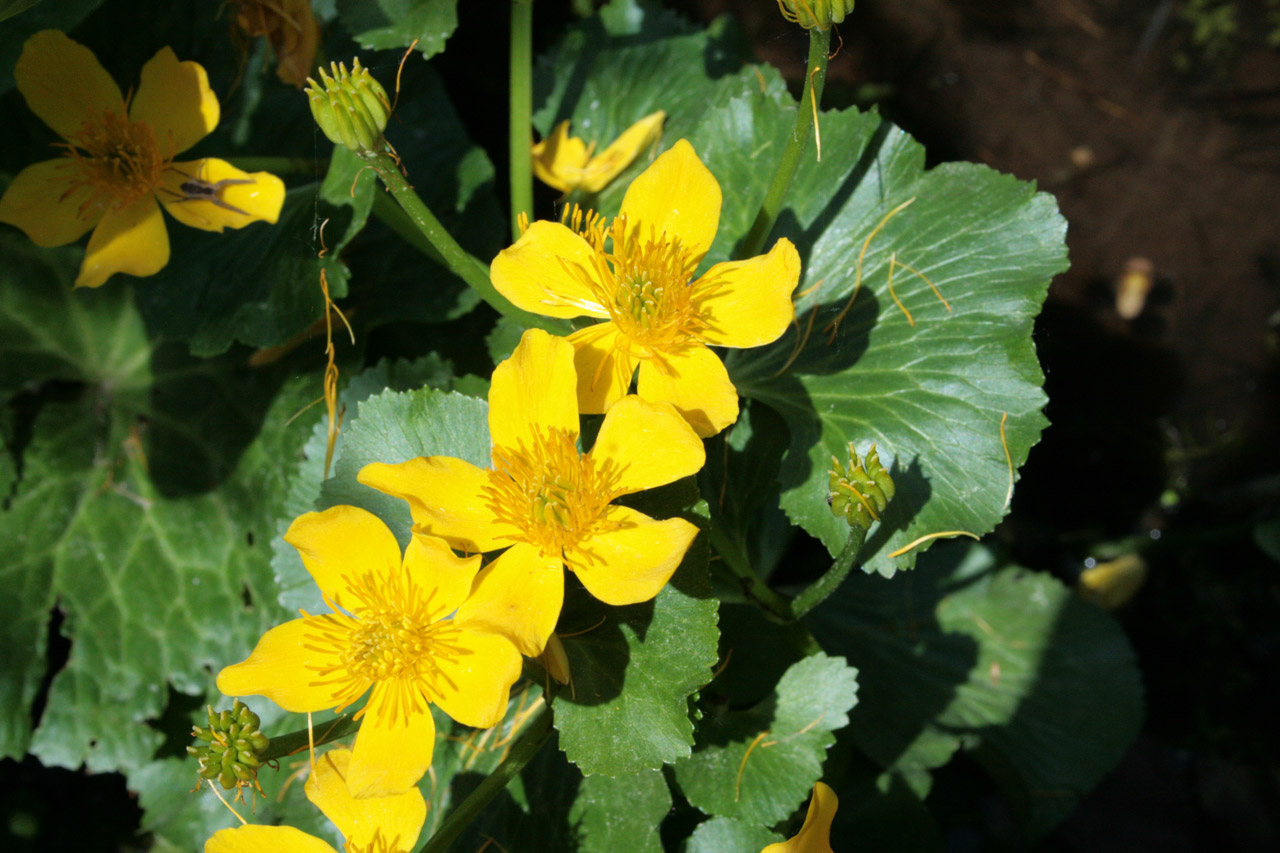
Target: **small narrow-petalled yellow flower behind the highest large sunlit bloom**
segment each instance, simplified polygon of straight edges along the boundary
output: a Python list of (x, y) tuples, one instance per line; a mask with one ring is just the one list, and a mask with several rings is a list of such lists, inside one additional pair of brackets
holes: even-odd
[(566, 119), (556, 126), (550, 136), (534, 143), (534, 174), (561, 192), (599, 192), (658, 140), (664, 120), (667, 114), (662, 110), (645, 115), (613, 140), (609, 147), (591, 156), (595, 142), (588, 145), (570, 136)]

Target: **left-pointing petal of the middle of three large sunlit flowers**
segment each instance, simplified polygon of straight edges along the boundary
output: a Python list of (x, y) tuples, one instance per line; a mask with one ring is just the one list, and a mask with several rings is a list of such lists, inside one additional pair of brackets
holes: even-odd
[(489, 473), (452, 456), (419, 456), (398, 465), (371, 462), (356, 479), (408, 501), (413, 524), (460, 551), (484, 552), (509, 543), (485, 494)]

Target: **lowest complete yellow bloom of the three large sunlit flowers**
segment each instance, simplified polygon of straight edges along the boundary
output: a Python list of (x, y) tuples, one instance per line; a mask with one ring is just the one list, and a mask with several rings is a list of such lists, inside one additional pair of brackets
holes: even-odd
[[(276, 625), (248, 660), (218, 675), (227, 695), (265, 695), (285, 711), (340, 711), (372, 690), (347, 768), (356, 797), (417, 784), (431, 763), (430, 704), (468, 726), (502, 720), (520, 654), (484, 617), (516, 608), (511, 590), (471, 592), (480, 557), (415, 535), (401, 556), (378, 516), (352, 506), (307, 512), (284, 540), (333, 610)], [(481, 619), (476, 619), (479, 612)]]

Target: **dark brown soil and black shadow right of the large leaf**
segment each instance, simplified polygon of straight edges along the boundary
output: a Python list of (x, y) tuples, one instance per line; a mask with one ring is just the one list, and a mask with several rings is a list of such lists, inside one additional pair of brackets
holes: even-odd
[[(773, 3), (676, 5), (732, 13), (799, 90), (806, 38)], [(1116, 616), (1148, 716), (1041, 849), (1280, 849), (1280, 702), (1266, 688), (1280, 566), (1253, 542), (1280, 506), (1280, 51), (1263, 44), (1260, 0), (1238, 4), (1229, 56), (1197, 61), (1181, 5), (859, 0), (832, 40), (824, 106), (874, 100), (931, 163), (1036, 181), (1070, 223), (1071, 269), (1036, 334), (1052, 426), (1000, 533), (1068, 581), (1108, 552), (1143, 555), (1147, 583)], [(1126, 320), (1115, 292), (1132, 259), (1155, 287)], [(1025, 844), (963, 762), (929, 806), (951, 849)]]

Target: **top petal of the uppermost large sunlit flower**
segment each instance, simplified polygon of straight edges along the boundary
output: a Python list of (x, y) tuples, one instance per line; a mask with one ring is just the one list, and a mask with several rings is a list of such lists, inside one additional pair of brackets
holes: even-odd
[(631, 182), (620, 215), (631, 238), (667, 234), (701, 257), (716, 240), (719, 207), (719, 183), (694, 146), (680, 140)]

